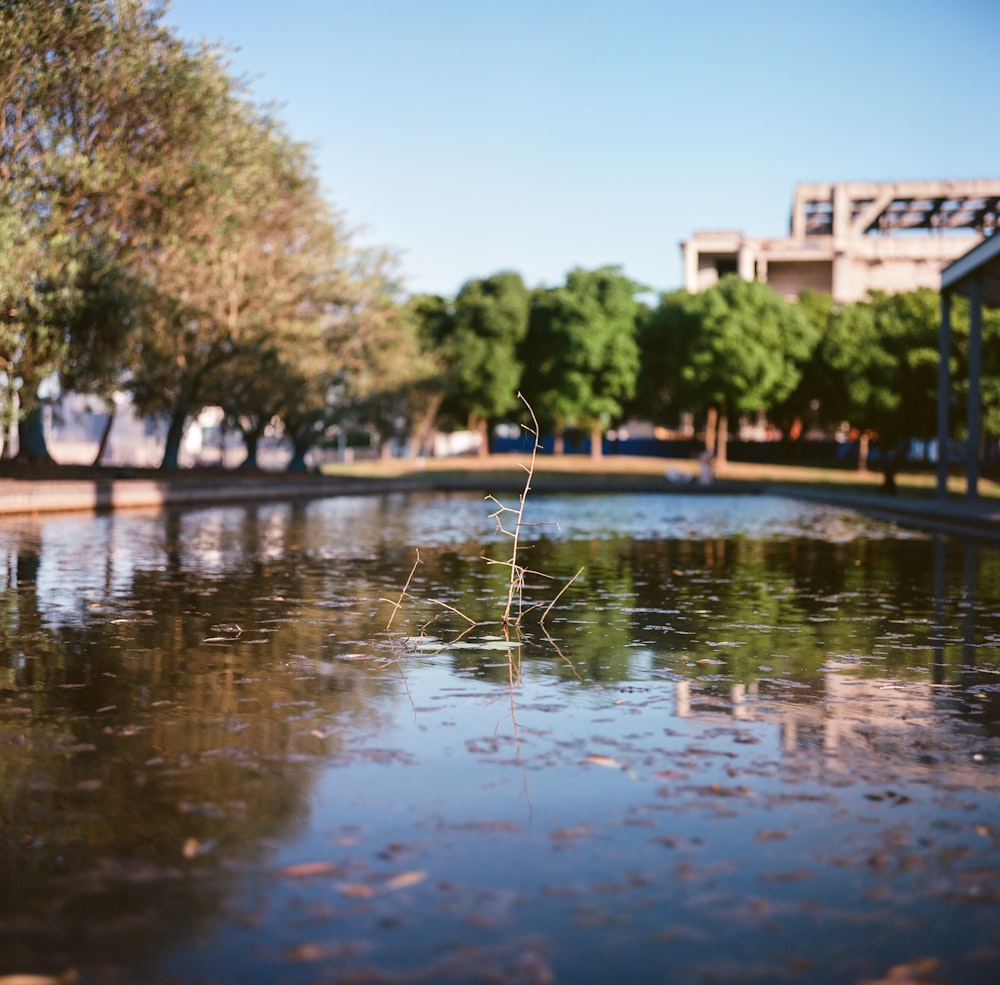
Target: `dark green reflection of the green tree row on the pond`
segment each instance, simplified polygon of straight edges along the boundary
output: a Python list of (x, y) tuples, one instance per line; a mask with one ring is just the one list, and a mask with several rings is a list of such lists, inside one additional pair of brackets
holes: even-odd
[[(947, 700), (993, 731), (1000, 696), (973, 668), (989, 642), (977, 613), (996, 608), (982, 586), (1000, 585), (1000, 555), (948, 540), (935, 568), (934, 545), (920, 536), (543, 538), (537, 557), (543, 570), (586, 567), (560, 601), (553, 632), (588, 680), (634, 678), (629, 647), (641, 644), (654, 665), (698, 681), (723, 704), (735, 682), (809, 705), (826, 700), (829, 661), (846, 658), (855, 676), (925, 681), (933, 673), (938, 683), (961, 684)], [(780, 686), (786, 674), (794, 690)], [(981, 692), (972, 706), (958, 697), (970, 690)]]

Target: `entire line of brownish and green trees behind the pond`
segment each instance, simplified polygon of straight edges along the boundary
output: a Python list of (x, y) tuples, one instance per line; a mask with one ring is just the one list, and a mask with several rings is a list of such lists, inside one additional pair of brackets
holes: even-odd
[[(393, 258), (356, 245), (324, 199), (309, 149), (224, 50), (179, 39), (164, 10), (0, 0), (0, 421), (16, 421), (24, 458), (47, 457), (43, 401), (68, 391), (100, 397), (109, 428), (121, 394), (164, 421), (167, 467), (205, 406), (242, 435), (247, 465), (277, 429), (296, 468), (349, 430), (412, 451), (467, 427), (485, 450), (519, 418), (519, 390), (557, 450), (571, 429), (599, 453), (627, 417), (683, 412), (720, 457), (748, 414), (788, 436), (843, 422), (933, 436), (932, 291), (836, 307), (730, 276), (650, 303), (609, 266), (557, 287), (505, 271), (454, 298), (406, 298)], [(960, 380), (961, 310), (955, 323)], [(996, 435), (996, 313), (984, 331)]]

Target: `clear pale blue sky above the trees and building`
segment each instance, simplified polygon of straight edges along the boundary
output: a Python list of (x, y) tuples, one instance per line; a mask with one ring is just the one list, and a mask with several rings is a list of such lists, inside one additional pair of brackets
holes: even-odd
[(172, 0), (409, 291), (787, 231), (798, 181), (1000, 177), (997, 0)]

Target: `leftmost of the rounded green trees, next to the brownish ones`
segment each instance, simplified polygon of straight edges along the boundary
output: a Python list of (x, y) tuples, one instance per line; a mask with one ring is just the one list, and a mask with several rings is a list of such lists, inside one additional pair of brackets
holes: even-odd
[(529, 292), (511, 271), (467, 281), (455, 298), (453, 317), (439, 326), (449, 400), (489, 451), (490, 424), (517, 407), (521, 382), (518, 346), (528, 330)]

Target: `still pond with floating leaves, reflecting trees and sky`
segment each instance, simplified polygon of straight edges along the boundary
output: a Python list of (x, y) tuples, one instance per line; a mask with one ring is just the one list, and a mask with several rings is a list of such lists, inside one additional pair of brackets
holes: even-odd
[(495, 508), (0, 521), (0, 982), (998, 980), (1000, 552)]

